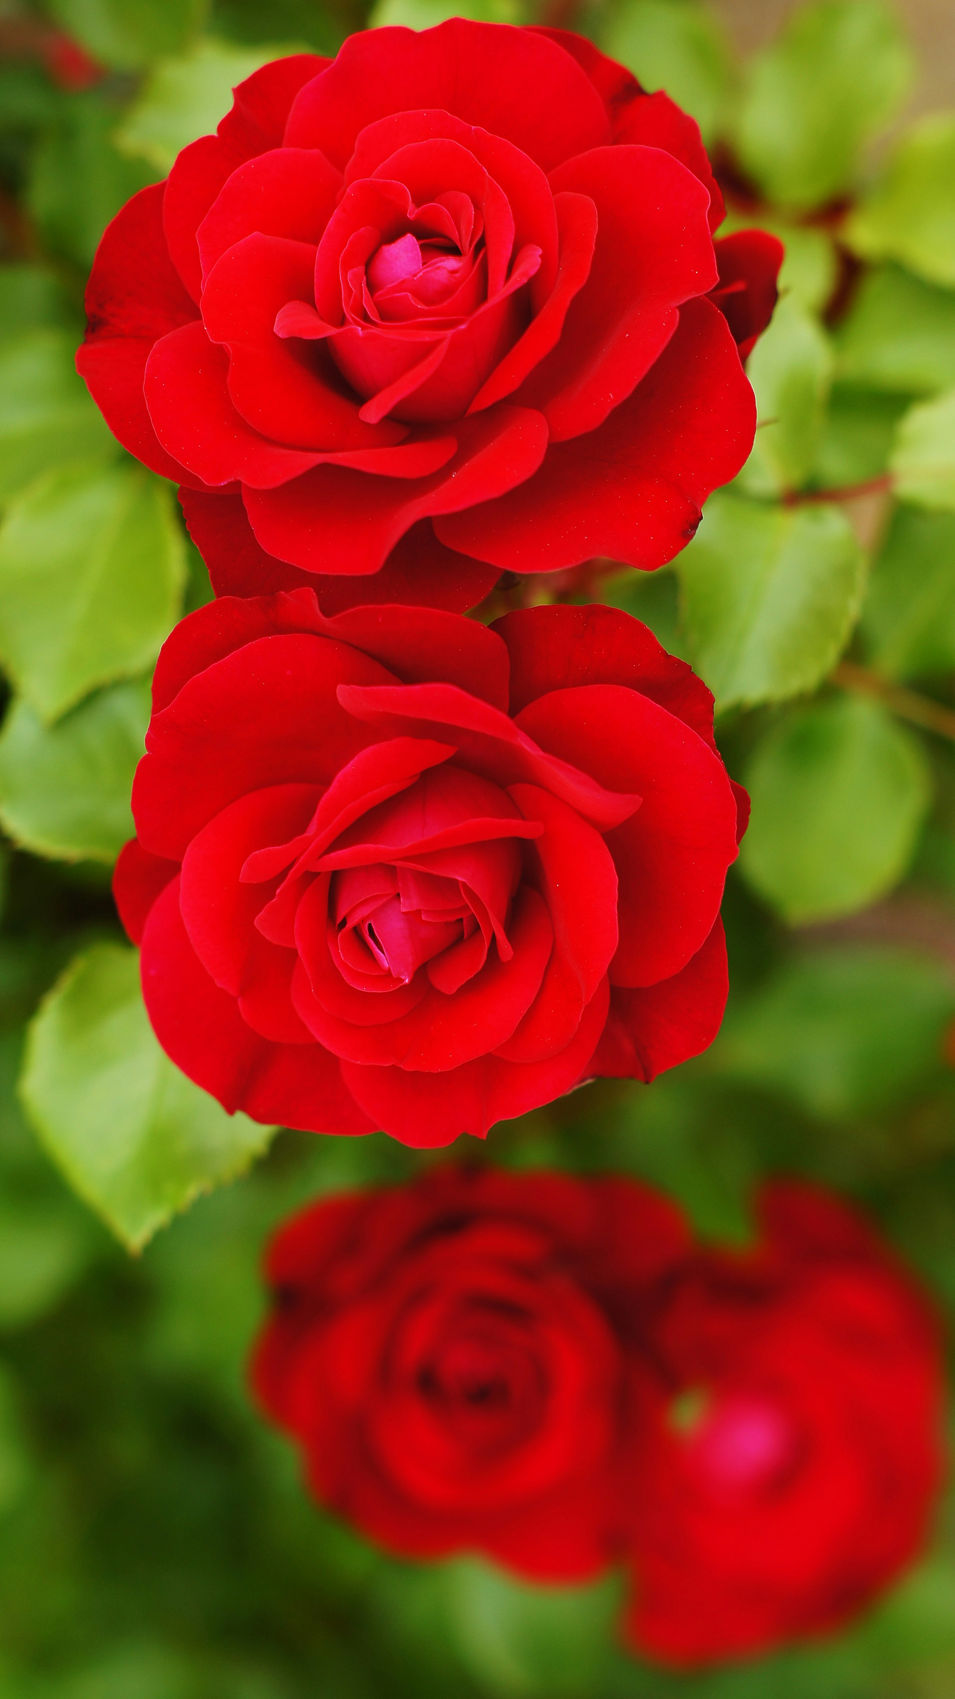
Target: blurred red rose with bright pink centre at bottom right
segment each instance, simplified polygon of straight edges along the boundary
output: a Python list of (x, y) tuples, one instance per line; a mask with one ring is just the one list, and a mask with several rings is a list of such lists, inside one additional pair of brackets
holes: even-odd
[(918, 1553), (943, 1378), (924, 1298), (807, 1186), (761, 1245), (707, 1250), (647, 1332), (670, 1419), (634, 1446), (634, 1645), (697, 1665), (838, 1628)]

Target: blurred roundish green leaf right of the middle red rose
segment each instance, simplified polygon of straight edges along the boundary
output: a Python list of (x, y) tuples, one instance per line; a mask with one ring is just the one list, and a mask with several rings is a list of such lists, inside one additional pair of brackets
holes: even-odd
[(904, 875), (931, 787), (921, 742), (868, 698), (787, 715), (758, 746), (739, 868), (794, 926), (851, 914)]

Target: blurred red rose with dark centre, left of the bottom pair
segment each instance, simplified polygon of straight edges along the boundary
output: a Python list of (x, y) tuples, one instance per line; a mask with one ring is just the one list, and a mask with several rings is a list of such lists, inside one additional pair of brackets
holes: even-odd
[(391, 1551), (585, 1580), (615, 1556), (639, 1422), (605, 1288), (685, 1252), (629, 1181), (447, 1169), (318, 1203), (272, 1242), (255, 1390), (316, 1499)]

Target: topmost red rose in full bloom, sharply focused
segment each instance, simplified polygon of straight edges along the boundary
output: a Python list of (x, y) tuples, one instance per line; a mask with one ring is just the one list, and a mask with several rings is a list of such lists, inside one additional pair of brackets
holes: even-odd
[(722, 216), (697, 124), (588, 41), (367, 31), (257, 71), (117, 214), (78, 369), (218, 593), (656, 567), (753, 445), (782, 248)]

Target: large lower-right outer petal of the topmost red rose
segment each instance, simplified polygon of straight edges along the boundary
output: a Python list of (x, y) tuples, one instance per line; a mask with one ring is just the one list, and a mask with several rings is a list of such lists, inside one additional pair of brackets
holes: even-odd
[(736, 477), (754, 435), (756, 403), (726, 319), (688, 301), (659, 360), (598, 430), (552, 443), (532, 477), (438, 515), (435, 530), (501, 571), (552, 573), (593, 556), (653, 571), (690, 542), (704, 501)]

